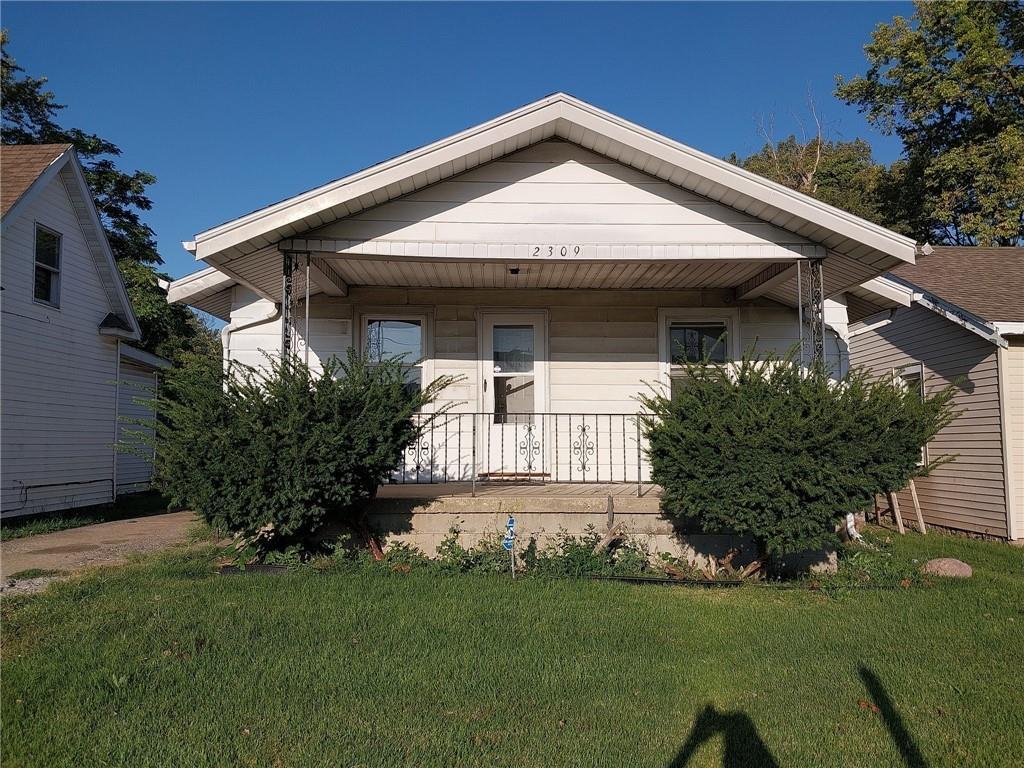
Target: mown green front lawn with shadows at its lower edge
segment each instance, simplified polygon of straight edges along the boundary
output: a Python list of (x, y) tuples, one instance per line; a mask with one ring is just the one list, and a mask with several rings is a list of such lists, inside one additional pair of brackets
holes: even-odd
[(705, 590), (200, 547), (4, 598), (5, 765), (1000, 766), (1024, 754), (1024, 552), (970, 581)]

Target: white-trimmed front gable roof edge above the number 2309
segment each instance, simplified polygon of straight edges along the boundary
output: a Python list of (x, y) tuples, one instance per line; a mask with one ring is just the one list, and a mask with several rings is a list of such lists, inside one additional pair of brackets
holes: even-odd
[(454, 136), (200, 232), (184, 246), (197, 259), (237, 276), (231, 265), (236, 259), (551, 138), (577, 143), (819, 243), (862, 262), (874, 274), (913, 261), (915, 244), (908, 238), (565, 93), (546, 96)]

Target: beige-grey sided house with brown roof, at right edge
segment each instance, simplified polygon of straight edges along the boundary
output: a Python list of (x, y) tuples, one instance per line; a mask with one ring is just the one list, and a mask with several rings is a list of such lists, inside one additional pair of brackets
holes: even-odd
[(1024, 248), (935, 248), (864, 288), (898, 308), (851, 327), (852, 364), (957, 388), (961, 415), (925, 450), (955, 461), (915, 482), (925, 521), (1024, 539)]

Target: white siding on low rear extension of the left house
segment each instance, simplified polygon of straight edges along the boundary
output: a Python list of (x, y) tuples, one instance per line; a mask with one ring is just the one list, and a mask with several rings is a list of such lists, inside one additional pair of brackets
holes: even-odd
[(150, 420), (153, 411), (143, 402), (153, 396), (157, 375), (147, 369), (121, 361), (118, 379), (118, 493), (144, 490), (153, 475), (153, 449), (145, 445), (138, 432), (151, 429), (130, 423)]

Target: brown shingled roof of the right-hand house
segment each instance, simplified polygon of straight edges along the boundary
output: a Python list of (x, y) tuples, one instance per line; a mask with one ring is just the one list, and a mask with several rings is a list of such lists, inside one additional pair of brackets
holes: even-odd
[(1024, 248), (936, 247), (892, 274), (981, 319), (1024, 322)]

